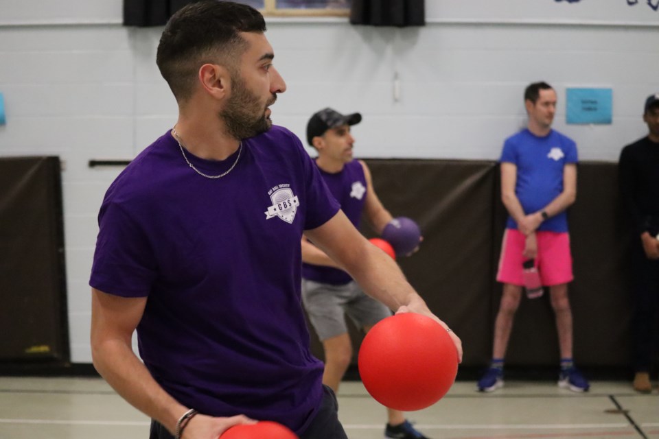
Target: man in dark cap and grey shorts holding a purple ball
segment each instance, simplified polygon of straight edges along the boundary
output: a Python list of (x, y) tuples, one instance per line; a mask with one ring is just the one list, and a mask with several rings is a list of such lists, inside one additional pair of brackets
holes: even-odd
[[(382, 235), (393, 217), (373, 189), (371, 171), (366, 163), (354, 160), (354, 137), (350, 127), (359, 123), (358, 112), (342, 115), (324, 108), (307, 123), (307, 142), (316, 149), (316, 165), (341, 210), (356, 228), (362, 214), (369, 226)], [(330, 257), (302, 238), (302, 299), (309, 320), (316, 329), (325, 352), (323, 384), (334, 392), (352, 359), (352, 343), (345, 322), (349, 316), (356, 326), (368, 332), (374, 324), (391, 316), (391, 311), (364, 294), (352, 277)], [(386, 438), (427, 439), (399, 410), (387, 409)]]

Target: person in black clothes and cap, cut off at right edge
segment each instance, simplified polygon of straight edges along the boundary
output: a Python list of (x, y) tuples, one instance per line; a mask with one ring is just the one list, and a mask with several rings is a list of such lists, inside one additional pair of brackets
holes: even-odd
[(623, 148), (618, 162), (623, 206), (632, 223), (634, 390), (652, 391), (659, 320), (659, 93), (645, 100), (649, 133)]

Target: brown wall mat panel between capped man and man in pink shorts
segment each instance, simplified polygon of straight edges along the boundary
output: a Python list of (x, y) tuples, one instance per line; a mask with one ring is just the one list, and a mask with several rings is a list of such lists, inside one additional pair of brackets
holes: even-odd
[(417, 253), (398, 259), (403, 272), (430, 309), (463, 338), (463, 363), (487, 361), (490, 334), (473, 329), (494, 324), (490, 312), (494, 165), (430, 160), (367, 163), (384, 206), (394, 216), (414, 219), (424, 236)]

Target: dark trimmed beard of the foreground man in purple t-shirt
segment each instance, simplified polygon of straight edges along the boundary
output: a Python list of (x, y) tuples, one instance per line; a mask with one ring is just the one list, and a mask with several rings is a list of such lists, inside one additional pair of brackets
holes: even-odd
[(227, 106), (220, 111), (229, 134), (235, 139), (247, 139), (266, 132), (273, 122), (266, 117), (266, 107), (275, 103), (277, 95), (266, 105), (262, 104), (257, 95), (248, 90), (238, 75), (233, 75), (233, 88)]

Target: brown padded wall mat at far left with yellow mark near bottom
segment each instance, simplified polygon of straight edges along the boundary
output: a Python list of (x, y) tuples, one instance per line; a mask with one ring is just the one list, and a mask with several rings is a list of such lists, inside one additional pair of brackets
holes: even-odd
[(68, 361), (59, 158), (0, 158), (0, 254), (0, 361)]

